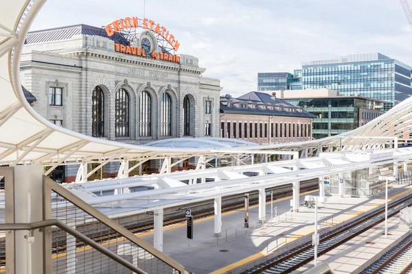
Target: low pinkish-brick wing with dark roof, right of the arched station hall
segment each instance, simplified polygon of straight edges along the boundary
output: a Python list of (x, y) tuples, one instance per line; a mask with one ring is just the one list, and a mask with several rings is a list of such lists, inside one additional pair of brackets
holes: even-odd
[(220, 136), (260, 145), (311, 140), (314, 115), (264, 92), (220, 98)]

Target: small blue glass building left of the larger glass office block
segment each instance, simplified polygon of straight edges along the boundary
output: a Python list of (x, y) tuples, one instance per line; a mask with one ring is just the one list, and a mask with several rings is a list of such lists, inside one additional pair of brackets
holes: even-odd
[[(301, 74), (301, 70), (295, 70)], [(292, 73), (258, 73), (258, 91), (301, 90), (301, 75)]]

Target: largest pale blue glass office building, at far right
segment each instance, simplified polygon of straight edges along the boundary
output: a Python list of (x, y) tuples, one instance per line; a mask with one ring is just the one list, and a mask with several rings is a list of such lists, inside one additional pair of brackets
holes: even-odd
[(385, 101), (385, 111), (411, 97), (411, 66), (380, 53), (304, 62), (303, 89), (331, 88), (341, 96)]

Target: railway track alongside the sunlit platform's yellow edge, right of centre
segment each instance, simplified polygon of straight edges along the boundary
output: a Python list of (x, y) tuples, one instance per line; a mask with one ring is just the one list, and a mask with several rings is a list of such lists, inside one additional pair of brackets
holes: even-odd
[[(397, 214), (402, 208), (410, 205), (412, 205), (412, 195), (408, 195), (407, 197), (389, 204), (388, 217)], [(358, 236), (384, 220), (385, 208), (378, 208), (359, 219), (322, 235), (318, 245), (318, 256), (342, 245), (344, 242)], [(295, 249), (282, 253), (280, 256), (268, 260), (253, 269), (249, 269), (248, 271), (245, 271), (244, 274), (290, 273), (299, 269), (299, 267), (308, 264), (312, 260), (314, 260), (314, 247), (312, 247), (312, 242), (310, 241)]]

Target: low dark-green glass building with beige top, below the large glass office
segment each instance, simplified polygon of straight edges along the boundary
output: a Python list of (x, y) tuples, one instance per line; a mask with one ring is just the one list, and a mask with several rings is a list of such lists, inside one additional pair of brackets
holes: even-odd
[(385, 101), (359, 96), (339, 96), (336, 90), (279, 91), (282, 100), (316, 116), (313, 138), (334, 136), (365, 125), (383, 113)]

